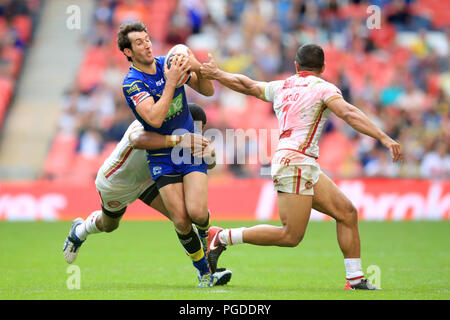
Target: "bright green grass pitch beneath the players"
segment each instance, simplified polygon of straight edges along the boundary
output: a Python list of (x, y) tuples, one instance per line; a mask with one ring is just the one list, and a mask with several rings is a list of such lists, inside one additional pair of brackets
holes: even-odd
[(69, 289), (76, 273), (62, 245), (70, 225), (0, 223), (0, 299), (450, 299), (450, 222), (360, 223), (363, 268), (380, 271), (377, 292), (343, 290), (334, 222), (310, 223), (296, 248), (229, 247), (219, 266), (232, 269), (230, 283), (197, 289), (169, 222), (124, 221), (87, 239), (74, 263), (80, 289)]

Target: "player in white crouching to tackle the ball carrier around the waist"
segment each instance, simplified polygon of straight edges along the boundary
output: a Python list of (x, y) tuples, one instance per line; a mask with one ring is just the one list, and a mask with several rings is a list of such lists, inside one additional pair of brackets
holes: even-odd
[[(189, 104), (189, 110), (195, 121), (203, 127), (206, 115), (203, 109), (195, 103)], [(202, 132), (199, 128), (198, 132)], [(186, 227), (192, 221), (188, 215), (171, 217), (152, 180), (147, 167), (145, 149), (160, 149), (177, 145), (190, 148), (195, 154), (201, 150), (214, 157), (209, 141), (201, 135), (187, 133), (181, 135), (160, 135), (156, 132), (146, 132), (139, 121), (135, 120), (128, 127), (124, 136), (111, 155), (105, 160), (98, 171), (95, 181), (100, 195), (102, 210), (92, 212), (86, 220), (77, 218), (73, 221), (64, 246), (63, 255), (68, 263), (73, 263), (78, 256), (81, 245), (89, 234), (112, 232), (119, 226), (120, 220), (129, 204), (140, 199), (148, 206), (170, 219), (175, 227)], [(214, 167), (214, 159), (208, 169)], [(192, 225), (195, 230), (195, 225)], [(181, 241), (186, 251), (192, 250), (188, 241)], [(193, 241), (194, 242), (194, 241)], [(201, 243), (197, 241), (196, 243)], [(197, 250), (194, 248), (193, 250)], [(205, 251), (207, 248), (203, 248)], [(214, 285), (224, 285), (231, 279), (232, 272), (225, 268), (217, 268), (213, 274)]]

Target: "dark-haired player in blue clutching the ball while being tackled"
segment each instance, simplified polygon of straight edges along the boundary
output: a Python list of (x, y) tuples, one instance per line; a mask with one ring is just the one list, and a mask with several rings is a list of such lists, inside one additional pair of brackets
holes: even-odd
[[(154, 57), (152, 42), (145, 25), (139, 21), (124, 23), (118, 32), (118, 47), (131, 62), (123, 81), (123, 93), (128, 106), (145, 131), (172, 135), (196, 132), (189, 112), (184, 86), (177, 88), (180, 77), (191, 71), (187, 84), (197, 92), (211, 96), (214, 87), (200, 76), (200, 62), (189, 50), (189, 56), (175, 55), (167, 70), (165, 56)], [(198, 133), (198, 132), (197, 132)], [(182, 151), (181, 151), (182, 152)], [(180, 242), (199, 274), (199, 287), (214, 285), (214, 277), (203, 248), (207, 248), (210, 218), (208, 211), (207, 164), (189, 153), (181, 163), (173, 161), (172, 148), (147, 150), (148, 167), (156, 182), (165, 207), (169, 211)], [(199, 236), (186, 214), (196, 225)], [(203, 248), (202, 248), (203, 246)]]

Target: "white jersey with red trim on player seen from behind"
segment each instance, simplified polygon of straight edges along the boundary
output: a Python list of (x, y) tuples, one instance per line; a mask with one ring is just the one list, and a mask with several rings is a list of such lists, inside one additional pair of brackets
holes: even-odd
[(264, 95), (267, 101), (273, 102), (278, 118), (277, 151), (288, 149), (317, 159), (319, 137), (331, 112), (326, 102), (341, 98), (341, 91), (312, 73), (302, 71), (284, 81), (269, 82)]

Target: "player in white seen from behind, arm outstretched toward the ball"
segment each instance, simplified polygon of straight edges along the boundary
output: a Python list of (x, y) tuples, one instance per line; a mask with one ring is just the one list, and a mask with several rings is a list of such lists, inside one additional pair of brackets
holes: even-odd
[(352, 202), (320, 170), (318, 141), (331, 112), (360, 133), (379, 140), (394, 162), (402, 160), (400, 145), (377, 128), (358, 108), (342, 98), (341, 91), (320, 78), (325, 69), (320, 46), (304, 45), (297, 50), (297, 73), (286, 80), (254, 81), (230, 74), (210, 61), (201, 75), (219, 81), (237, 92), (273, 102), (278, 118), (280, 140), (272, 159), (272, 179), (278, 195), (281, 227), (256, 225), (250, 228), (222, 229), (209, 233), (210, 265), (226, 245), (250, 243), (262, 246), (295, 247), (303, 239), (311, 208), (336, 220), (337, 238), (344, 255), (344, 289), (377, 289), (367, 279), (360, 259), (358, 213)]

